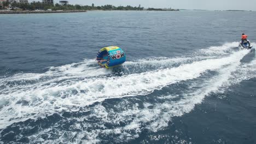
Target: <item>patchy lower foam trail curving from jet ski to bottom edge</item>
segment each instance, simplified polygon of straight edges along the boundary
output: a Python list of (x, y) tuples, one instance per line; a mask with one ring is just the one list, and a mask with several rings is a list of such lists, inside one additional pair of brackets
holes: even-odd
[[(125, 127), (119, 127), (115, 129), (104, 129), (104, 130), (95, 130), (94, 135), (88, 136), (89, 140), (84, 140), (84, 142), (91, 142), (98, 140), (97, 137), (102, 134), (107, 135), (118, 135), (117, 140), (123, 140), (125, 137), (127, 139), (135, 139), (138, 137), (138, 134), (144, 129), (143, 125), (147, 123), (146, 129), (151, 131), (158, 131), (168, 125), (168, 122), (171, 121), (171, 118), (174, 116), (182, 116), (184, 113), (188, 113), (194, 109), (196, 104), (201, 103), (205, 96), (210, 92), (218, 92), (219, 87), (222, 87), (224, 83), (230, 82), (231, 74), (236, 71), (237, 67), (240, 66), (240, 61), (236, 61), (230, 64), (228, 67), (218, 70), (219, 75), (212, 77), (210, 81), (205, 81), (203, 86), (197, 91), (191, 91), (190, 93), (184, 93), (184, 98), (178, 101), (166, 101), (160, 104), (150, 104), (144, 103), (144, 109), (140, 109), (138, 105), (134, 105), (132, 109), (126, 110), (122, 113), (115, 113), (115, 119), (104, 119), (105, 122), (110, 122), (115, 124), (117, 122), (125, 122), (127, 118), (133, 117), (132, 122)], [(231, 80), (232, 81), (232, 80)], [(197, 87), (196, 85), (194, 87)], [(168, 96), (166, 96), (168, 97)], [(119, 107), (122, 107), (124, 104), (120, 104)], [(150, 107), (150, 108), (148, 108)], [(152, 108), (153, 107), (153, 108)], [(97, 107), (99, 113), (106, 112), (106, 109), (102, 106)], [(108, 112), (106, 112), (108, 113)], [(135, 133), (131, 133), (135, 131)], [(84, 134), (80, 133), (79, 135)], [(82, 137), (82, 136), (80, 136)], [(83, 140), (81, 140), (83, 141)]]

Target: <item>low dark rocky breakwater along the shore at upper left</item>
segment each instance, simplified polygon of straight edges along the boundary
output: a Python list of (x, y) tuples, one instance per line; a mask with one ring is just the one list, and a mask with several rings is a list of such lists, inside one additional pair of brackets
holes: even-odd
[(86, 10), (56, 10), (56, 11), (31, 11), (31, 10), (2, 10), (0, 14), (55, 14), (55, 13), (84, 13)]

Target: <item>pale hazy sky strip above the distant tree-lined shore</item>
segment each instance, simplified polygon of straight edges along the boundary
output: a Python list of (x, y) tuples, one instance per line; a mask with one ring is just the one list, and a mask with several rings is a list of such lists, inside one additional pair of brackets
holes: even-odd
[[(33, 1), (33, 0), (30, 0)], [(54, 0), (55, 3), (59, 0)], [(177, 9), (207, 9), (207, 10), (256, 10), (256, 0), (68, 0), (69, 4), (82, 5), (142, 5), (144, 8), (177, 8)]]

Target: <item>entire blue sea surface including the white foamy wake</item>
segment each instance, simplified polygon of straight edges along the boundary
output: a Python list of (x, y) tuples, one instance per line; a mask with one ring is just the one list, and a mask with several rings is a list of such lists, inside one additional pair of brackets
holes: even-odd
[[(0, 15), (0, 143), (256, 143), (255, 16)], [(111, 45), (126, 62), (100, 68)]]

